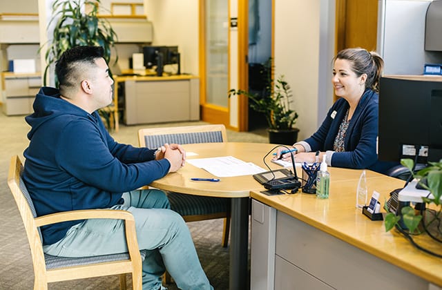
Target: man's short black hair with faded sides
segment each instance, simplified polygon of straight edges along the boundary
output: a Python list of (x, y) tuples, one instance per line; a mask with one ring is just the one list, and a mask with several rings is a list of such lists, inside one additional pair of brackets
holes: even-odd
[(75, 46), (63, 52), (55, 64), (61, 95), (64, 95), (64, 90), (76, 86), (84, 65), (95, 66), (95, 59), (103, 57), (103, 53), (101, 46)]

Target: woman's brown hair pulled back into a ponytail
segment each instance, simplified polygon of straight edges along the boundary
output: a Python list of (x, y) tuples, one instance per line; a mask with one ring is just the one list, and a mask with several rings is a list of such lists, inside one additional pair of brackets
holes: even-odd
[(384, 66), (384, 61), (377, 52), (367, 51), (363, 48), (346, 48), (340, 50), (336, 59), (347, 59), (352, 65), (352, 70), (358, 77), (367, 74), (365, 88), (371, 88), (375, 92), (379, 91), (379, 81)]

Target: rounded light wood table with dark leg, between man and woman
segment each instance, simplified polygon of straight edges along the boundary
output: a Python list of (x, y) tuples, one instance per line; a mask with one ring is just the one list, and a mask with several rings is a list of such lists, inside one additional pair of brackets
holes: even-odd
[[(186, 144), (186, 152), (197, 153), (198, 156), (188, 157), (206, 158), (233, 156), (244, 162), (266, 168), (262, 157), (270, 151), (274, 144), (259, 143), (210, 143)], [(271, 168), (280, 166), (270, 162)], [(188, 193), (193, 195), (206, 195), (215, 197), (233, 197), (231, 202), (231, 240), (230, 240), (230, 267), (229, 289), (244, 290), (248, 286), (248, 241), (249, 241), (249, 193), (251, 190), (264, 188), (250, 175), (237, 177), (221, 177), (220, 182), (193, 182), (191, 177), (213, 177), (207, 171), (186, 164), (176, 173), (170, 173), (160, 180), (152, 182), (151, 186), (166, 191)]]

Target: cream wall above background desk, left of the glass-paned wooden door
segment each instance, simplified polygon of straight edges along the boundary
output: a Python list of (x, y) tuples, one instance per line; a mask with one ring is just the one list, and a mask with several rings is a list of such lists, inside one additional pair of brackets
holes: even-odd
[(153, 23), (153, 45), (178, 46), (181, 72), (199, 74), (198, 0), (144, 0)]

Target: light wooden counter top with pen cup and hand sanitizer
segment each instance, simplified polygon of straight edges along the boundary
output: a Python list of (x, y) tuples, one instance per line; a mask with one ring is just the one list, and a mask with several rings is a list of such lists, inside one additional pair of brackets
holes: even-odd
[[(329, 172), (327, 200), (300, 191), (275, 196), (252, 191), (251, 197), (442, 287), (441, 258), (417, 250), (398, 231), (385, 232), (383, 221), (369, 220), (361, 209), (356, 209), (356, 187), (362, 171), (329, 167)], [(390, 192), (404, 184), (403, 180), (367, 171), (368, 195), (371, 197), (374, 190), (381, 193), (382, 206)], [(441, 244), (426, 234), (414, 236), (414, 240), (430, 251), (442, 252)]]

